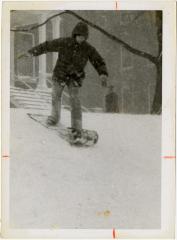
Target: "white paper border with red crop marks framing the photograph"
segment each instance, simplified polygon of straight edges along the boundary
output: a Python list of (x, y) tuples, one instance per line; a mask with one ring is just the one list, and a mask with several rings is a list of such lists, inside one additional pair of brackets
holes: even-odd
[[(99, 3), (100, 2), (100, 3)], [(175, 234), (175, 1), (4, 1), (2, 3), (2, 229), (6, 238), (113, 238), (113, 229), (10, 229), (10, 11), (11, 10), (162, 10), (161, 229), (115, 229), (114, 238), (174, 238)]]

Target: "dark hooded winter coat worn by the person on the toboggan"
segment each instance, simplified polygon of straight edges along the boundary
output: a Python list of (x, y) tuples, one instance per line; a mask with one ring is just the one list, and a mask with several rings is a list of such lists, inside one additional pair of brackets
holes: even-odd
[[(85, 41), (78, 43), (76, 35), (85, 37)], [(79, 22), (73, 29), (72, 36), (46, 41), (33, 47), (28, 52), (39, 56), (47, 52), (58, 52), (58, 59), (53, 70), (53, 79), (69, 81), (75, 79), (81, 82), (85, 77), (84, 68), (88, 61), (94, 66), (99, 75), (108, 75), (106, 64), (97, 50), (88, 42), (88, 26)]]

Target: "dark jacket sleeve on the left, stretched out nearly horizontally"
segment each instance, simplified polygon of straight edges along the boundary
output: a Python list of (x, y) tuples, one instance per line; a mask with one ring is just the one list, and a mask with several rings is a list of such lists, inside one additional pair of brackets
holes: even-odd
[(46, 41), (28, 50), (33, 56), (39, 56), (47, 52), (59, 52), (64, 45), (64, 39), (58, 38), (52, 41)]

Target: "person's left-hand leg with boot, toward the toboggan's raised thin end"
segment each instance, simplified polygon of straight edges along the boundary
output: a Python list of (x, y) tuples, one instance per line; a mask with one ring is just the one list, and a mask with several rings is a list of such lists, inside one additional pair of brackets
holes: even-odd
[(61, 86), (59, 82), (53, 81), (52, 85), (52, 109), (51, 115), (48, 117), (48, 124), (55, 125), (60, 120), (61, 114), (61, 96), (64, 86)]

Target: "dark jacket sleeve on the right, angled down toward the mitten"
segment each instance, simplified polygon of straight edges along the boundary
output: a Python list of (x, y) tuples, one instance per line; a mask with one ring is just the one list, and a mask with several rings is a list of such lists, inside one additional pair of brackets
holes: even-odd
[(92, 46), (90, 46), (90, 49), (89, 49), (89, 61), (94, 66), (94, 68), (96, 69), (99, 75), (104, 74), (108, 76), (108, 71), (103, 58), (100, 56), (97, 50)]

